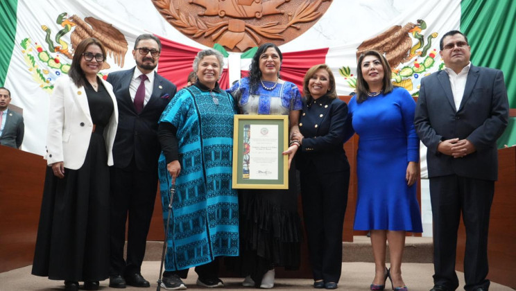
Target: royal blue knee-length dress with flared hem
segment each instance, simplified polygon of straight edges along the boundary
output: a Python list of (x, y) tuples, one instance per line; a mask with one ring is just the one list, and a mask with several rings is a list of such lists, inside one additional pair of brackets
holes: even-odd
[(419, 161), (411, 94), (395, 87), (363, 103), (354, 96), (348, 107), (347, 137), (354, 132), (360, 137), (354, 229), (422, 232), (416, 184), (407, 186), (405, 179), (408, 162)]

